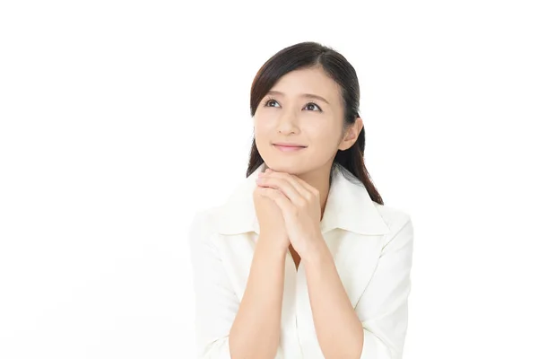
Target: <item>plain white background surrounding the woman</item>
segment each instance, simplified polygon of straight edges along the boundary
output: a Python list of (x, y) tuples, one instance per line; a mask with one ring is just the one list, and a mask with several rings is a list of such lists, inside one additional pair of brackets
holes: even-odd
[(404, 358), (538, 357), (532, 3), (2, 2), (0, 357), (194, 357), (187, 226), (305, 40), (357, 70), (367, 167), (412, 215)]

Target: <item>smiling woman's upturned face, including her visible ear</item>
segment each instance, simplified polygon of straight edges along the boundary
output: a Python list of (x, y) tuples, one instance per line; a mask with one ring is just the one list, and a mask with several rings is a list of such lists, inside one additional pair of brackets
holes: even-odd
[[(274, 171), (301, 174), (330, 169), (337, 150), (351, 147), (359, 135), (360, 118), (356, 122), (343, 134), (338, 84), (321, 68), (300, 69), (282, 76), (260, 101), (254, 116), (256, 146)], [(304, 148), (282, 151), (276, 143)]]

